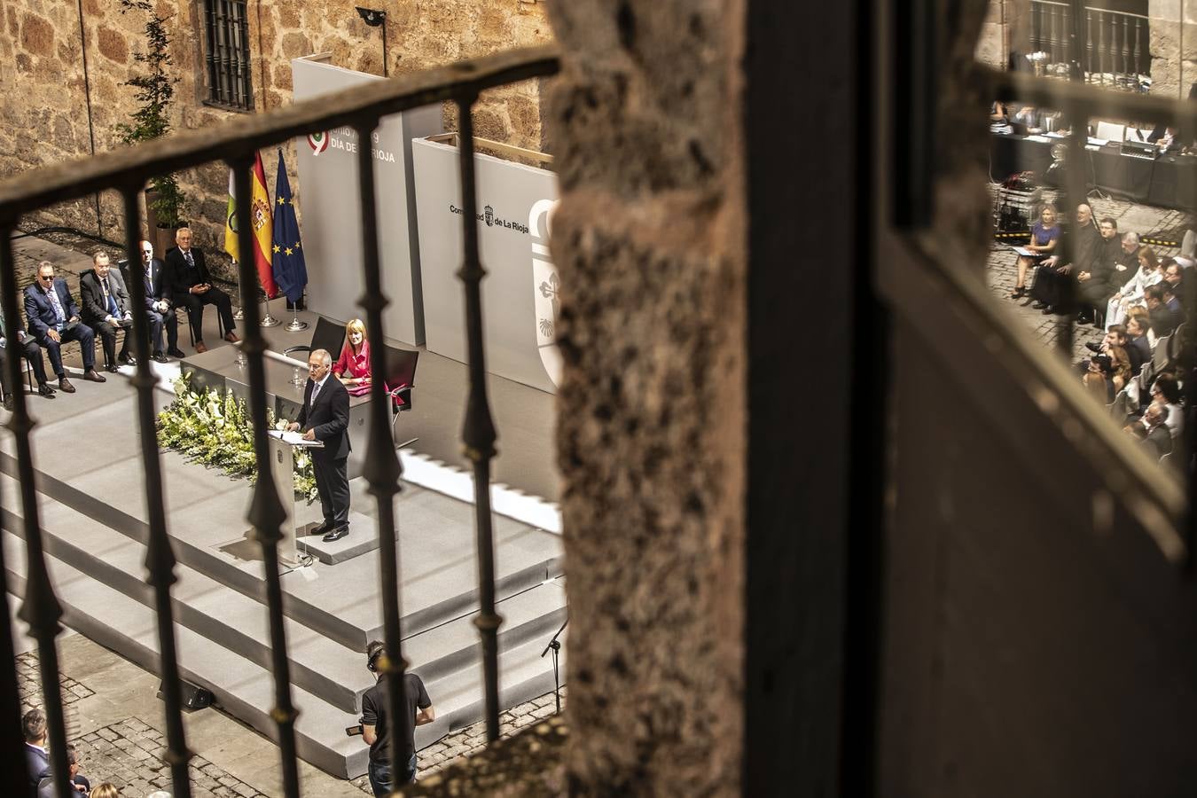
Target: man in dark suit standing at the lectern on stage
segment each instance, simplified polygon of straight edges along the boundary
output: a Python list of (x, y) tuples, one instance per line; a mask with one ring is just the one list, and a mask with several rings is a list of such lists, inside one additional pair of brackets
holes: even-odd
[(316, 349), (308, 358), (308, 384), (303, 392), (299, 419), (287, 430), (304, 431), (304, 440), (318, 440), (323, 449), (311, 450), (316, 473), (316, 491), (324, 522), (312, 535), (324, 535), (324, 542), (339, 541), (350, 534), (350, 395), (339, 379), (329, 379), (333, 355)]

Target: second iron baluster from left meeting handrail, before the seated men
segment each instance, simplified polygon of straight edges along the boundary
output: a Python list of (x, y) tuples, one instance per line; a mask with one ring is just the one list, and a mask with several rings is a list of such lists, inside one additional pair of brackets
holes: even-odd
[[(138, 425), (141, 432), (141, 467), (145, 469), (146, 512), (148, 538), (146, 540), (147, 583), (154, 591), (154, 613), (158, 621), (158, 672), (162, 676), (162, 694), (166, 703), (166, 755), (170, 766), (171, 786), (176, 798), (190, 798), (192, 784), (188, 762), (192, 751), (187, 748), (183, 731), (183, 699), (178, 682), (178, 653), (175, 641), (175, 613), (170, 604), (170, 587), (175, 577), (175, 552), (166, 536), (166, 510), (162, 486), (162, 461), (158, 455), (158, 431), (154, 412), (154, 385), (158, 378), (150, 367), (150, 318), (146, 304), (145, 279), (141, 269), (141, 209), (138, 195), (141, 184), (123, 189), (124, 243), (129, 262), (128, 290), (133, 305), (133, 343), (138, 358), (136, 373), (129, 383), (138, 395)], [(128, 331), (126, 331), (128, 335)]]

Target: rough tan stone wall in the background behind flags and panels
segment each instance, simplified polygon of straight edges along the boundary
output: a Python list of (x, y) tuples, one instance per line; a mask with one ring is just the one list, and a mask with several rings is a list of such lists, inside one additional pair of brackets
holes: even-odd
[[(369, 28), (354, 11), (357, 0), (302, 5), (291, 0), (249, 0), (249, 51), (254, 110), (271, 110), (291, 102), (290, 60), (329, 51), (332, 63), (382, 73), (382, 29)], [(552, 38), (543, 4), (535, 0), (427, 0), (420, 4), (379, 0), (370, 4), (388, 13), (388, 72), (399, 74), (500, 49), (543, 43)], [(205, 105), (203, 4), (157, 0), (174, 41), (176, 129), (217, 124), (238, 115)], [(115, 130), (135, 108), (133, 90), (122, 86), (140, 65), (133, 53), (142, 49), (145, 17), (122, 14), (117, 0), (6, 0), (0, 36), (0, 177), (91, 152), (83, 54), (91, 85), (95, 148), (120, 146)], [(504, 87), (484, 96), (476, 106), (479, 135), (540, 148), (542, 144), (537, 84)], [(451, 116), (449, 116), (451, 120)], [(451, 128), (450, 128), (451, 129)], [(287, 146), (290, 177), (297, 188), (293, 147)], [(267, 182), (273, 185), (275, 160), (263, 153)], [(224, 240), (227, 170), (208, 165), (180, 175), (188, 193), (186, 217), (196, 243), (219, 250)], [(302, 199), (300, 206), (302, 208)], [(96, 201), (47, 209), (34, 224), (68, 225), (115, 240), (123, 238), (121, 203), (103, 197), (99, 223)], [(217, 266), (221, 263), (217, 258)], [(220, 269), (224, 270), (224, 269)], [(225, 270), (226, 276), (231, 273)]]

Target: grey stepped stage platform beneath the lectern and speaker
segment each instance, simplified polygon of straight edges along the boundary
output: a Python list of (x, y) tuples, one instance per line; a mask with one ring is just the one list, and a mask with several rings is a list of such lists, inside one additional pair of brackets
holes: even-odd
[[(272, 342), (282, 337), (291, 346), (306, 343), (310, 329), (291, 335), (274, 328), (268, 335)], [(275, 346), (281, 349), (280, 343)], [(158, 397), (165, 404), (170, 401), (165, 386), (177, 376), (178, 364), (152, 365), (162, 377)], [(32, 437), (42, 529), (65, 623), (154, 670), (157, 638), (152, 593), (145, 584), (139, 433), (127, 382), (132, 370), (124, 372), (109, 374), (104, 384), (74, 379), (74, 395), (30, 396), (28, 401), (38, 421)], [(403, 653), (437, 708), (437, 721), (417, 730), (418, 747), (475, 723), (482, 713), (478, 632), (472, 623), (476, 608), (474, 517), (473, 506), (462, 500), (472, 488), (456, 465), (460, 445), (452, 443), (450, 450), (448, 432), (460, 426), (463, 379), (461, 364), (421, 354), (417, 409), (400, 420), (401, 439), (420, 438), (412, 451), (402, 452), (405, 469), (419, 485), (405, 481), (395, 500)], [(498, 611), (504, 617), (500, 692), (503, 705), (514, 706), (553, 688), (552, 663), (540, 653), (565, 620), (565, 592), (559, 516), (548, 497), (533, 489), (555, 486), (547, 456), (552, 397), (497, 382), (508, 383), (492, 380), (492, 388), (498, 388), (494, 401), (511, 394), (511, 410), (522, 406), (515, 419), (508, 419), (511, 435), (504, 456), (510, 485), (494, 491)], [(438, 400), (450, 396), (452, 401)], [(546, 397), (547, 412), (535, 410), (540, 397)], [(502, 434), (503, 414), (496, 415)], [(7, 414), (0, 412), (0, 416)], [(517, 444), (529, 441), (542, 447), (517, 450)], [(518, 465), (533, 461), (543, 462), (535, 468)], [(226, 712), (273, 736), (262, 564), (244, 522), (250, 485), (175, 452), (165, 452), (162, 462), (169, 532), (180, 561), (174, 605), (184, 678), (208, 687)], [(511, 467), (512, 462), (517, 465)], [(8, 590), (20, 595), (24, 526), (14, 477), (12, 437), (4, 435), (5, 567)], [(339, 544), (347, 548), (335, 556), (326, 552), (329, 562), (316, 561), (282, 575), (293, 695), (300, 709), (299, 753), (344, 778), (365, 772), (366, 748), (360, 737), (346, 737), (344, 729), (357, 723), (361, 693), (372, 683), (361, 652), (369, 640), (382, 636), (375, 501), (360, 479), (352, 481), (351, 489), (351, 535)], [(305, 512), (318, 517), (318, 510)], [(557, 531), (551, 531), (554, 524)]]

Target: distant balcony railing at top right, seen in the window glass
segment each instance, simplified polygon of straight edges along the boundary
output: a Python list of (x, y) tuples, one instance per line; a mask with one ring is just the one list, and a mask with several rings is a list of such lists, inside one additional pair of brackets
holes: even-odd
[(1078, 56), (1088, 83), (1138, 91), (1142, 78), (1152, 74), (1148, 18), (1086, 6), (1082, 22), (1084, 51), (1074, 55), (1071, 6), (1031, 0), (1031, 51), (1046, 54), (1044, 69), (1067, 77)]

